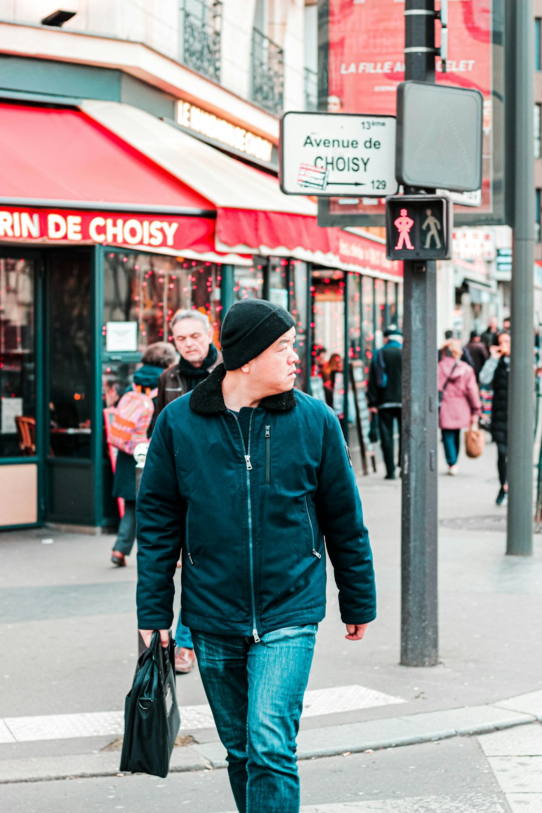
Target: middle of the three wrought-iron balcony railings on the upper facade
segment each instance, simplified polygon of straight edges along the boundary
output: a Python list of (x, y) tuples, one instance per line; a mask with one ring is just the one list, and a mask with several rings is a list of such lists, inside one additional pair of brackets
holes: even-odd
[(271, 113), (281, 113), (284, 107), (284, 50), (258, 31), (252, 29), (253, 102)]

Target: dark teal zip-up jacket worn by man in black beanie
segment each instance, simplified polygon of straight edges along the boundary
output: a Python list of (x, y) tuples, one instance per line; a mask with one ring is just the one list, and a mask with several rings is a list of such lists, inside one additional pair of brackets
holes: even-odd
[(317, 624), (326, 549), (342, 620), (372, 621), (371, 546), (332, 410), (297, 390), (265, 398), (252, 411), (246, 455), (224, 406), (224, 375), (221, 364), (154, 427), (137, 497), (139, 628), (171, 627), (181, 554), (186, 626), (258, 640)]

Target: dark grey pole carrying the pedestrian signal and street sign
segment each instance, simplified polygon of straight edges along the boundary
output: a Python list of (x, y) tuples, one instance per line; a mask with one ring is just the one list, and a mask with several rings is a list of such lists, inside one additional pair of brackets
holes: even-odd
[[(435, 19), (434, 0), (406, 0), (405, 80), (435, 82)], [(405, 189), (405, 193), (420, 191)], [(401, 664), (434, 666), (438, 659), (436, 263), (409, 261), (404, 269)]]

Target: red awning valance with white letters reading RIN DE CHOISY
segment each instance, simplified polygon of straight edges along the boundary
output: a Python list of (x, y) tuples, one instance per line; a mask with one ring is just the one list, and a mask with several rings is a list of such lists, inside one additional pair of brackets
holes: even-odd
[(215, 250), (214, 220), (116, 212), (0, 209), (0, 241)]

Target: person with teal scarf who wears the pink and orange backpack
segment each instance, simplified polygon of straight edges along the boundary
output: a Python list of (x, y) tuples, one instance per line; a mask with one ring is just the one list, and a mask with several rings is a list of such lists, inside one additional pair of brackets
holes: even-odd
[[(149, 345), (141, 359), (142, 366), (133, 374), (133, 384), (142, 392), (158, 387), (158, 378), (164, 368), (175, 360), (175, 350), (165, 341), (155, 341)], [(128, 387), (129, 390), (132, 387)], [(152, 431), (149, 425), (148, 435)], [(116, 567), (124, 567), (126, 557), (132, 552), (136, 541), (136, 461), (133, 454), (119, 450), (115, 475), (113, 477), (113, 497), (124, 499), (124, 515), (119, 523), (119, 534), (111, 551), (111, 562)]]

